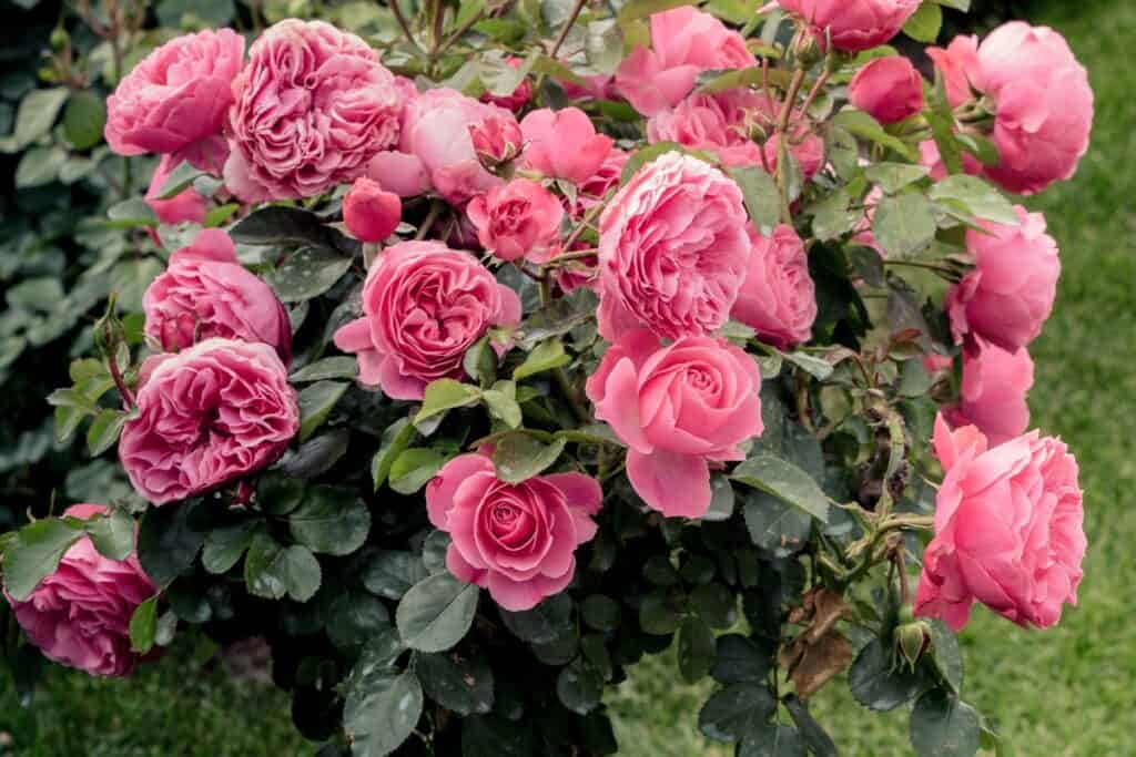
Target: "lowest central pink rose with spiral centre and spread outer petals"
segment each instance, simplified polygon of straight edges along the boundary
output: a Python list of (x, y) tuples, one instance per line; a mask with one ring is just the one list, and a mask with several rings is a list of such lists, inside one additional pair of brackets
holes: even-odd
[(426, 486), (431, 523), (452, 539), (445, 566), (510, 612), (568, 587), (576, 548), (595, 536), (602, 503), (599, 481), (583, 473), (507, 483), (475, 454), (454, 457)]

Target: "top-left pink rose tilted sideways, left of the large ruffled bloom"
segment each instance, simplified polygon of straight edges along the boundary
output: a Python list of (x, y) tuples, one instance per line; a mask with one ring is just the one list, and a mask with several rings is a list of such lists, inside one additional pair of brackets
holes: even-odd
[(107, 144), (120, 155), (192, 152), (219, 135), (243, 56), (244, 37), (227, 28), (156, 49), (107, 98)]

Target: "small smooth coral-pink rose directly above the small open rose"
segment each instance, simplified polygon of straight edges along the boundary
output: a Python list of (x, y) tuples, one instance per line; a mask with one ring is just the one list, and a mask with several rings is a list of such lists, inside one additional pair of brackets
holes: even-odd
[(583, 184), (611, 152), (610, 136), (595, 133), (592, 119), (579, 108), (534, 110), (520, 121), (525, 152), (520, 163), (550, 178)]

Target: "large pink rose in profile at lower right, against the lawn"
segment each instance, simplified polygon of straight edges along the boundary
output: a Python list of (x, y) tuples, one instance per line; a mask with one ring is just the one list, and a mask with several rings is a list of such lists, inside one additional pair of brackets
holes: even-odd
[(935, 538), (924, 554), (914, 614), (954, 631), (980, 602), (1024, 628), (1050, 628), (1077, 604), (1085, 557), (1077, 461), (1030, 431), (997, 447), (974, 426), (935, 423)]

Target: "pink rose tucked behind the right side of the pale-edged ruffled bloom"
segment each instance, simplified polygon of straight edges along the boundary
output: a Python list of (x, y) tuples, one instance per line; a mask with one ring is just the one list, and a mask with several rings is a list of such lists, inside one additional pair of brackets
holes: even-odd
[(778, 350), (808, 342), (817, 319), (817, 293), (801, 237), (782, 224), (768, 237), (751, 226), (750, 239), (750, 269), (730, 317)]

